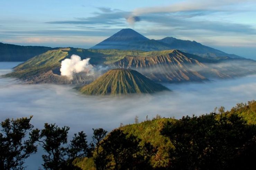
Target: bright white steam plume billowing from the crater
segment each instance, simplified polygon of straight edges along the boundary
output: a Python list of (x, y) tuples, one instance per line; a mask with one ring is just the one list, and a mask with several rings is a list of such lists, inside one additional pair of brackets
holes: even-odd
[(72, 55), (70, 59), (65, 59), (61, 62), (61, 75), (73, 79), (74, 73), (86, 72), (88, 74), (93, 72), (93, 66), (89, 63), (90, 58), (81, 60), (80, 56)]

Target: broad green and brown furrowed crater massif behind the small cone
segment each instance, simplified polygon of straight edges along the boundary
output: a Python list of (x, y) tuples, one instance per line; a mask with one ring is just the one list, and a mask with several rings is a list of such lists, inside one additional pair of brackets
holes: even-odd
[(97, 68), (133, 69), (155, 82), (204, 81), (212, 78), (234, 78), (256, 73), (256, 61), (240, 58), (207, 59), (179, 50), (93, 50), (62, 48), (49, 50), (19, 64), (7, 77), (17, 77), (26, 83), (88, 84), (98, 75), (82, 72), (73, 79), (61, 76), (61, 61), (73, 54), (81, 59), (91, 58)]

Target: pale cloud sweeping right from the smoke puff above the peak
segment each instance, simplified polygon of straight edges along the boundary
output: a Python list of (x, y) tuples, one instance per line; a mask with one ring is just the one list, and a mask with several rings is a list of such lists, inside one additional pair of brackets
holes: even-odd
[[(237, 32), (243, 34), (256, 33), (254, 26), (228, 21), (211, 21), (207, 19), (191, 20), (193, 17), (207, 16), (212, 13), (222, 12), (221, 15), (234, 11), (248, 12), (246, 9), (238, 9), (234, 4), (246, 4), (255, 2), (254, 0), (217, 0), (217, 1), (183, 1), (173, 3), (169, 6), (136, 8), (131, 11), (127, 20), (134, 24), (134, 16), (139, 17), (139, 21), (161, 24), (167, 28), (177, 28), (179, 30), (211, 30), (214, 32)], [(159, 26), (159, 25), (158, 25)]]

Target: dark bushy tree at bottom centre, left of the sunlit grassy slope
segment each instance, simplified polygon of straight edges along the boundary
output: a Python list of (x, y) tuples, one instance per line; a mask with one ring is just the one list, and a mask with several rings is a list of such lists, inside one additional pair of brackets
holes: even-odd
[(95, 161), (97, 170), (150, 170), (150, 158), (153, 156), (153, 147), (146, 143), (140, 146), (140, 139), (127, 135), (121, 130), (113, 130), (100, 143), (101, 152), (96, 155), (104, 161)]

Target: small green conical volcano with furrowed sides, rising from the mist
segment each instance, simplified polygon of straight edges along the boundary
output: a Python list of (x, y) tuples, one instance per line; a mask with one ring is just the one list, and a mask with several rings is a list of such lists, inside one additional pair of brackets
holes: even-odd
[(88, 95), (121, 95), (155, 93), (168, 89), (131, 69), (113, 69), (78, 90)]

